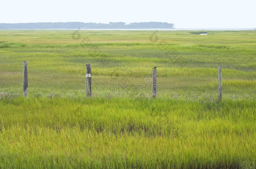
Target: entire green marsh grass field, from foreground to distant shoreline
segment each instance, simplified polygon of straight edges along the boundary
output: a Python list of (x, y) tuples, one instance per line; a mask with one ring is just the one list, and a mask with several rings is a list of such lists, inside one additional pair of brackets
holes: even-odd
[(195, 32), (0, 30), (0, 168), (255, 168), (256, 31)]

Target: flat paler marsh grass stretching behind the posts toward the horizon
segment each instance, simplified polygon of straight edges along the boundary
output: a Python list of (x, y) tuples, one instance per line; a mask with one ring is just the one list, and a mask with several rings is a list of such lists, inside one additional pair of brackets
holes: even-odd
[[(255, 31), (198, 35), (192, 31), (80, 30), (80, 38), (73, 33), (75, 30), (0, 30), (2, 92), (21, 94), (22, 61), (27, 60), (30, 95), (41, 91), (79, 93), (85, 63), (91, 63), (93, 84), (103, 86), (117, 85), (119, 81), (113, 78), (123, 77), (131, 78), (129, 85), (144, 82), (157, 66), (157, 77), (164, 79), (161, 83), (178, 84), (173, 92), (182, 96), (188, 88), (203, 90), (204, 86), (212, 89), (194, 92), (199, 96), (216, 94), (217, 66), (222, 64), (224, 85), (227, 80), (247, 86), (224, 86), (223, 97), (255, 96)], [(167, 55), (168, 51), (172, 54)]]

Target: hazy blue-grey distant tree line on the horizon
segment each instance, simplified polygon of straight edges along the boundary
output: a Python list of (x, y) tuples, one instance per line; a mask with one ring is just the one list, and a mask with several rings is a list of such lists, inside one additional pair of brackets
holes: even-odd
[(82, 22), (57, 22), (57, 23), (0, 23), (0, 29), (172, 29), (172, 23), (139, 22), (125, 24), (124, 22), (82, 23)]

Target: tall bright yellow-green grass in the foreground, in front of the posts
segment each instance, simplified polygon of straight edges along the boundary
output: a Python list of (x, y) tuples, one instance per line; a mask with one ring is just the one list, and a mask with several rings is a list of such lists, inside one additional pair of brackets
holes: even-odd
[(1, 168), (255, 167), (255, 101), (0, 101)]

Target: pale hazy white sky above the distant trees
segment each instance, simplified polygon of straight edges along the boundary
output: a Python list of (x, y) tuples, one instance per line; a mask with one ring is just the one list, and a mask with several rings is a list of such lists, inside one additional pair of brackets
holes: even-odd
[(255, 28), (256, 0), (1, 0), (0, 23), (168, 22), (175, 28)]

